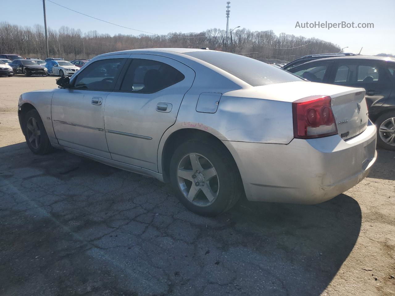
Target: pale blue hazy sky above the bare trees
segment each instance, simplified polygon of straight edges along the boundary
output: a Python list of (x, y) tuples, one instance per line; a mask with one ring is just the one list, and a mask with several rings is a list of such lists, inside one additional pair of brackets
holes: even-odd
[[(0, 2), (9, 2), (0, 0)], [(138, 30), (167, 34), (201, 32), (209, 28), (226, 29), (226, 0), (52, 0), (87, 15)], [(330, 41), (344, 52), (395, 54), (395, 0), (232, 0), (229, 27), (252, 31), (273, 30), (296, 36)], [(0, 21), (21, 26), (43, 24), (42, 0), (13, 0), (15, 13), (1, 14)], [(140, 32), (91, 19), (46, 1), (47, 26), (97, 30), (99, 33), (133, 34)], [(374, 28), (295, 28), (297, 22), (373, 23)]]

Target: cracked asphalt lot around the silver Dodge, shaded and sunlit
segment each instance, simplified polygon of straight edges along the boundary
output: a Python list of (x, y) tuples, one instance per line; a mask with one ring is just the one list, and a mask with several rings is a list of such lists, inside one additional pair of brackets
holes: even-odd
[(17, 99), (54, 80), (0, 78), (0, 295), (395, 295), (394, 152), (328, 202), (200, 217), (153, 178), (33, 155)]

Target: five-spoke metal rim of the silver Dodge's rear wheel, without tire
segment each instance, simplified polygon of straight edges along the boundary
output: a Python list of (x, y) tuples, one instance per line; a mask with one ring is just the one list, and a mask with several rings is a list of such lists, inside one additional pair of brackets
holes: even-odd
[(186, 199), (196, 206), (213, 204), (219, 193), (219, 180), (213, 164), (203, 155), (184, 155), (177, 166), (179, 188)]

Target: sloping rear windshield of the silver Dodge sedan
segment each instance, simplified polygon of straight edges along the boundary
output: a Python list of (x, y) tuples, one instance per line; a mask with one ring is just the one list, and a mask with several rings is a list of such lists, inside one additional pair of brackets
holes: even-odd
[(193, 51), (185, 54), (212, 64), (251, 86), (302, 80), (287, 71), (239, 54), (222, 51)]

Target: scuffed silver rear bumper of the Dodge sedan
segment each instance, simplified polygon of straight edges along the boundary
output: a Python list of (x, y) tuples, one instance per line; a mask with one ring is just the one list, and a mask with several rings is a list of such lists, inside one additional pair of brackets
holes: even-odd
[(223, 141), (254, 201), (317, 204), (347, 191), (376, 161), (376, 127), (343, 141), (339, 135), (289, 144)]

